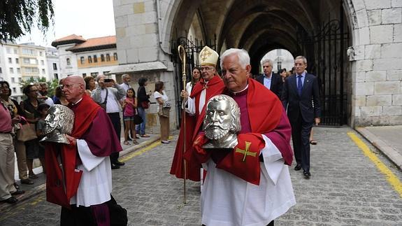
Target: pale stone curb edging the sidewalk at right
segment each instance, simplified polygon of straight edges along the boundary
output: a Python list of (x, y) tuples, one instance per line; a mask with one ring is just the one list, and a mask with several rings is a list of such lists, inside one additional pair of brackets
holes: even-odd
[(382, 139), (379, 139), (378, 136), (375, 136), (364, 127), (356, 127), (354, 129), (359, 132), (361, 136), (364, 136), (364, 138), (367, 139), (373, 146), (375, 146), (375, 148), (378, 148), (378, 150), (384, 153), (384, 155), (387, 156), (389, 160), (394, 162), (394, 164), (396, 164), (396, 167), (402, 169), (402, 155), (394, 150), (394, 148), (387, 145), (385, 141), (382, 141)]

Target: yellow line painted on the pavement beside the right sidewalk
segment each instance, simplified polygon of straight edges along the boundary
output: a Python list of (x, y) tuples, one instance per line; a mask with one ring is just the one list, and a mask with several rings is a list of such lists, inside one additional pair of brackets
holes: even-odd
[(375, 164), (378, 170), (380, 170), (380, 172), (385, 175), (388, 183), (392, 185), (392, 188), (394, 188), (394, 190), (399, 193), (399, 196), (402, 197), (402, 183), (401, 181), (399, 181), (399, 178), (397, 178), (395, 174), (392, 173), (392, 171), (389, 170), (387, 166), (385, 166), (385, 164), (382, 163), (377, 156), (375, 156), (375, 153), (373, 153), (373, 151), (371, 151), (370, 148), (366, 146), (366, 143), (361, 141), (361, 139), (359, 139), (356, 134), (354, 134), (353, 132), (348, 132), (347, 135), (350, 136), (350, 139), (352, 139), (352, 141), (354, 141), (354, 143), (356, 143), (356, 145), (363, 151), (364, 155), (366, 155), (366, 157), (368, 157), (368, 159), (370, 159), (371, 162)]

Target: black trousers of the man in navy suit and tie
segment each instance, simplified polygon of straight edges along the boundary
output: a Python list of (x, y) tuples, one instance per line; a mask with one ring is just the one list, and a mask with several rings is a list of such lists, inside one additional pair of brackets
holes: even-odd
[(313, 122), (306, 122), (299, 115), (297, 120), (291, 121), (294, 158), (301, 164), (303, 171), (310, 172), (310, 132)]

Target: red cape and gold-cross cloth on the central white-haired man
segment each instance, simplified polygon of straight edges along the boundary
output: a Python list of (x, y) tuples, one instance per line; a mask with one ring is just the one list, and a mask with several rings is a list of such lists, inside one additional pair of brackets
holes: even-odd
[[(238, 105), (242, 108), (242, 112), (245, 111), (244, 108), (247, 108), (244, 113), (248, 117), (245, 118), (245, 115), (241, 117), (242, 132), (238, 135), (238, 145), (226, 156), (222, 156), (222, 150), (201, 148), (206, 142), (201, 134), (194, 143), (193, 157), (199, 162), (205, 162), (212, 157), (217, 163), (217, 168), (259, 185), (259, 154), (265, 146), (261, 134), (271, 139), (282, 153), (285, 164), (290, 165), (292, 164), (292, 149), (289, 146), (291, 131), (282, 104), (273, 92), (250, 78), (245, 92), (247, 97), (243, 101), (246, 103), (242, 102)], [(227, 90), (224, 93), (234, 96)]]

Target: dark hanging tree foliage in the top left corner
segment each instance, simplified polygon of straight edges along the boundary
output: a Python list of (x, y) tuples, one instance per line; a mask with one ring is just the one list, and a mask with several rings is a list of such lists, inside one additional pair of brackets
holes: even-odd
[(38, 24), (43, 34), (53, 24), (52, 0), (1, 0), (0, 1), (0, 41), (13, 41), (34, 24)]

